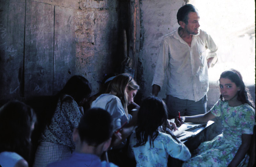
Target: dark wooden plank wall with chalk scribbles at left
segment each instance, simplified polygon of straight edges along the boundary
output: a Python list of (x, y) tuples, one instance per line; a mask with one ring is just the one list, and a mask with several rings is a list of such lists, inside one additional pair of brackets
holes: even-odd
[(75, 74), (75, 9), (0, 1), (0, 99), (47, 96)]

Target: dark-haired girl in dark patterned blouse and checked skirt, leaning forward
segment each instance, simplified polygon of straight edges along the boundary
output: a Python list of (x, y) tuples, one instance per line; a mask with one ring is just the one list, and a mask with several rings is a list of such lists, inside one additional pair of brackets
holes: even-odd
[(33, 166), (44, 167), (63, 160), (75, 150), (73, 130), (84, 113), (81, 106), (91, 92), (91, 83), (87, 79), (72, 76), (56, 95), (56, 107), (39, 139)]

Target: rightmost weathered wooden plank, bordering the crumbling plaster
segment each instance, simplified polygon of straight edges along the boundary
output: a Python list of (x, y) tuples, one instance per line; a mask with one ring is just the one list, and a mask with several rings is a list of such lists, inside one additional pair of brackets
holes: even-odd
[(75, 10), (55, 6), (53, 94), (75, 75)]

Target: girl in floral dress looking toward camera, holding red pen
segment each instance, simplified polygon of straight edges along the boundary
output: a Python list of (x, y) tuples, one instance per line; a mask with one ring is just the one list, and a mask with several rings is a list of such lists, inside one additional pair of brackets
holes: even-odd
[(184, 122), (206, 123), (216, 116), (221, 118), (223, 132), (212, 141), (206, 141), (195, 150), (196, 155), (182, 166), (247, 166), (255, 125), (255, 107), (241, 74), (234, 69), (220, 75), (220, 99), (206, 114), (183, 116), (175, 119), (179, 126)]

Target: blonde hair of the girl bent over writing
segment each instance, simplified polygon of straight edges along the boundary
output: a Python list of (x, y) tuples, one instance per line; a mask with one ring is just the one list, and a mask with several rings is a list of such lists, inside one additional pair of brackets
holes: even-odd
[(108, 85), (107, 92), (115, 92), (116, 96), (121, 100), (122, 106), (124, 107), (125, 115), (128, 118), (128, 110), (127, 110), (127, 93), (125, 91), (126, 86), (128, 86), (128, 90), (139, 90), (140, 86), (136, 83), (136, 81), (132, 78), (130, 74), (119, 74), (116, 76)]

